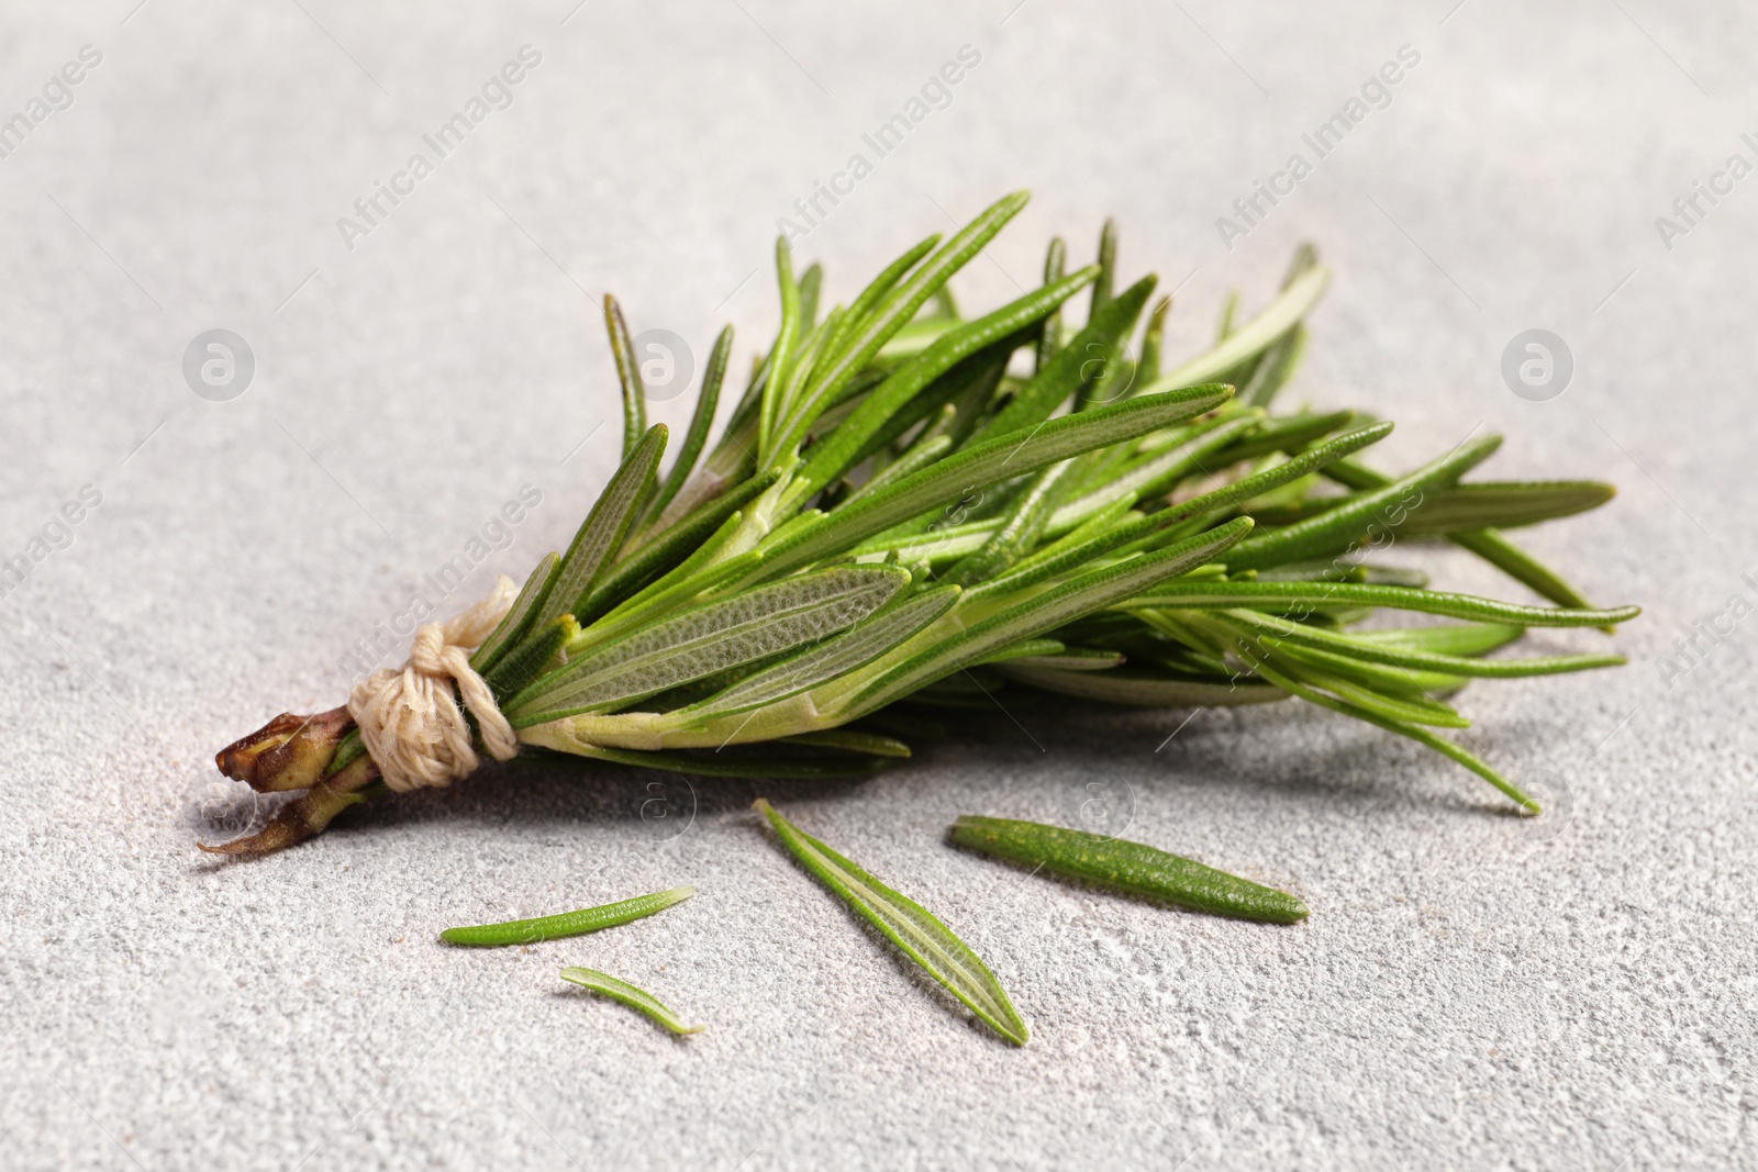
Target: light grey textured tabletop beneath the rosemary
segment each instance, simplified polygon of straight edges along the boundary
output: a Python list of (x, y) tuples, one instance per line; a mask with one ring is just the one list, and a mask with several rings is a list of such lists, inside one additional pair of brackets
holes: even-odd
[[(1758, 177), (1656, 227), (1695, 181), (1726, 188), (1730, 155), (1758, 162), (1749, 12), (571, 4), (7, 5), (0, 118), (53, 100), (0, 158), (0, 555), (46, 527), (67, 548), (0, 599), (0, 1161), (1758, 1165), (1758, 619), (1718, 619), (1758, 601)], [(79, 84), (49, 84), (88, 44)], [(512, 104), (425, 148), (522, 46)], [(861, 135), (962, 46), (979, 61), (879, 158)], [(1217, 216), (1311, 162), (1301, 135), (1401, 46), (1420, 60), (1391, 104), (1227, 250)], [(432, 174), (399, 179), (417, 153)], [(735, 322), (744, 369), (777, 218), (856, 153), (870, 174), (796, 244), (837, 297), (1030, 186), (960, 295), (1014, 295), (1051, 232), (1085, 253), (1115, 213), (1125, 269), (1180, 288), (1185, 353), (1310, 237), (1336, 281), (1294, 397), (1396, 416), (1401, 464), (1493, 429), (1501, 473), (1617, 481), (1529, 543), (1647, 608), (1616, 638), (1631, 664), (1464, 698), (1554, 814), (1292, 705), (1034, 710), (860, 785), (665, 778), (693, 821), (640, 817), (654, 775), (517, 766), (258, 863), (199, 856), (250, 815), (214, 749), (338, 703), (350, 645), (522, 485), (541, 504), (454, 601), (568, 539), (619, 429), (592, 299), (698, 355)], [(367, 223), (380, 183), (404, 195)], [(225, 402), (181, 369), (216, 327), (257, 358)], [(1575, 358), (1547, 402), (1500, 373), (1535, 327)], [(84, 485), (100, 503), (56, 529)], [(1700, 620), (1726, 634), (1667, 673)], [(1088, 784), (1134, 836), (1311, 919), (1155, 910), (941, 843), (962, 812), (1065, 821)], [(1032, 1045), (860, 931), (754, 826), (759, 789), (965, 933)], [(701, 894), (599, 937), (434, 940), (684, 882)], [(564, 963), (710, 1028), (677, 1042), (570, 993)]]

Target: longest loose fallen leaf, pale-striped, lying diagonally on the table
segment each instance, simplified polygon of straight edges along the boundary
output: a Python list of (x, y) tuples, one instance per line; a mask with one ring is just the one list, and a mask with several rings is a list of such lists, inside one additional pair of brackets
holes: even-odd
[(844, 903), (877, 928), (886, 940), (904, 951), (909, 959), (939, 980), (948, 993), (963, 1002), (983, 1024), (1014, 1045), (1025, 1045), (1030, 1031), (1007, 1000), (1007, 991), (995, 980), (976, 952), (951, 928), (942, 924), (919, 903), (891, 891), (883, 882), (842, 857), (817, 838), (795, 828), (766, 799), (758, 798), (756, 808), (775, 828), (788, 852), (819, 882), (830, 887)]

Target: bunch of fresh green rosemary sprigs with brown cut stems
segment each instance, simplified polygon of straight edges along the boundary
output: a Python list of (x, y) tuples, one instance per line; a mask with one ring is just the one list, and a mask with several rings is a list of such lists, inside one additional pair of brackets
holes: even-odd
[[(682, 448), (661, 476), (622, 313), (624, 459), (566, 555), (531, 573), (473, 654), (519, 742), (700, 775), (865, 773), (909, 756), (923, 706), (1000, 687), (1150, 706), (1299, 696), (1417, 740), (1538, 807), (1438, 729), (1473, 676), (1579, 671), (1619, 655), (1487, 659), (1526, 627), (1610, 627), (1503, 529), (1602, 504), (1584, 481), (1463, 481), (1471, 439), (1412, 473), (1357, 457), (1391, 432), (1352, 411), (1271, 415), (1327, 272), (1303, 248), (1280, 293), (1162, 373), (1155, 278), (1099, 262), (981, 318), (948, 279), (1025, 206), (1014, 193), (898, 257), (821, 311), (823, 271), (777, 242), (781, 329), (703, 457), (731, 353), (721, 332)], [(1079, 329), (1065, 302), (1088, 290)], [(1366, 562), (1435, 538), (1558, 606), (1426, 589)], [(1352, 631), (1377, 610), (1464, 622)], [(745, 749), (731, 749), (745, 747)], [(726, 752), (721, 752), (726, 750)], [(225, 749), (260, 791), (306, 792), (260, 833), (285, 847), (385, 792), (346, 710), (283, 715)]]

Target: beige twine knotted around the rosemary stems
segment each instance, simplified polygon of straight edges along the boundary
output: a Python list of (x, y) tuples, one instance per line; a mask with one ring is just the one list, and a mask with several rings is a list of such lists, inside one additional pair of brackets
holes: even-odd
[(515, 596), (517, 589), (503, 575), (494, 590), (464, 613), (417, 629), (406, 664), (381, 668), (355, 685), (348, 715), (360, 726), (360, 740), (385, 784), (397, 792), (450, 785), (476, 768), (469, 722), (457, 706), (454, 685), (476, 717), (489, 756), (510, 761), (519, 752), (513, 726), (469, 666), (469, 654), (494, 633)]

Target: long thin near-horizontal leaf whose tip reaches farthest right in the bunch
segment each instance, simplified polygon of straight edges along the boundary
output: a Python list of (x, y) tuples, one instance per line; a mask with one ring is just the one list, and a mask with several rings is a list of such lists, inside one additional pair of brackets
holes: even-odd
[(1352, 582), (1173, 582), (1129, 599), (1120, 608), (1225, 610), (1231, 606), (1268, 606), (1271, 610), (1310, 610), (1313, 606), (1391, 606), (1449, 619), (1512, 622), (1524, 627), (1602, 627), (1628, 622), (1640, 606), (1612, 610), (1565, 610), (1498, 603), (1470, 594), (1417, 590), (1412, 587), (1361, 585)]

